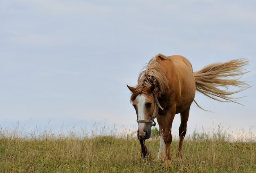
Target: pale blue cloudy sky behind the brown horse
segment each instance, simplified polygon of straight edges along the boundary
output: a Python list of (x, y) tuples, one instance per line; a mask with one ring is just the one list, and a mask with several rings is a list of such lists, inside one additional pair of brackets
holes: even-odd
[[(0, 127), (133, 128), (126, 84), (158, 53), (183, 55), (197, 71), (247, 58), (241, 106), (196, 93), (188, 133), (221, 126), (256, 134), (256, 1), (2, 0)], [(178, 133), (180, 115), (173, 122)], [(94, 129), (95, 130), (95, 129)]]

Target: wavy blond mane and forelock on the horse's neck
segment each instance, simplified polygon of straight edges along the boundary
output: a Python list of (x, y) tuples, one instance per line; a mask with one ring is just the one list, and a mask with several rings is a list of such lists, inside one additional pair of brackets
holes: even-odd
[(155, 84), (159, 88), (160, 93), (164, 93), (168, 87), (168, 80), (166, 78), (166, 72), (164, 71), (159, 60), (169, 60), (165, 55), (157, 54), (151, 58), (148, 64), (141, 70), (139, 74), (137, 86), (132, 91), (130, 101), (135, 100), (137, 95), (141, 94), (147, 88), (150, 88), (152, 84)]

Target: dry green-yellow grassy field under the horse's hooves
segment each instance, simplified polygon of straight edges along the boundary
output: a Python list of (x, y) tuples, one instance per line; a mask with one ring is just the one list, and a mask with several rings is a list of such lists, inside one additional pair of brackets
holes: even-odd
[[(153, 134), (154, 135), (154, 134)], [(187, 137), (183, 158), (175, 157), (178, 142), (171, 147), (171, 165), (158, 161), (159, 137), (146, 141), (151, 156), (140, 157), (139, 141), (126, 136), (54, 137), (41, 135), (20, 138), (14, 132), (0, 131), (1, 172), (256, 172), (256, 142), (229, 142), (223, 133)]]

